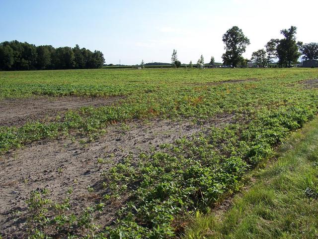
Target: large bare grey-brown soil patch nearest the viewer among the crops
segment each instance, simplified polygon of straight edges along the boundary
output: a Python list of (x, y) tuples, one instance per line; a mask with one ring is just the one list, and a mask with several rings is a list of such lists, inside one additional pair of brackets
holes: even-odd
[[(71, 203), (75, 206), (72, 212), (76, 214), (99, 200), (100, 174), (107, 173), (111, 165), (128, 154), (136, 159), (141, 152), (159, 149), (162, 143), (206, 132), (209, 126), (221, 126), (234, 120), (233, 115), (195, 123), (191, 119), (136, 120), (112, 125), (105, 136), (86, 145), (80, 143), (80, 139), (60, 138), (11, 150), (0, 160), (0, 232), (4, 238), (25, 237), (23, 213), (27, 206), (25, 200), (32, 190), (47, 188), (52, 192), (50, 198), (59, 201), (66, 197), (68, 188), (73, 187)], [(108, 162), (100, 164), (98, 158)], [(94, 192), (89, 193), (88, 187), (93, 187)], [(118, 208), (121, 206), (118, 203)], [(111, 222), (115, 211), (115, 208), (108, 208), (97, 223)]]

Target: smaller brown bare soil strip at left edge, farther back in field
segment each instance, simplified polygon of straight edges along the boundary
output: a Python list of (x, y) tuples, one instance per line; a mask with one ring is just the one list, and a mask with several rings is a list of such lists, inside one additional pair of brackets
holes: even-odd
[(105, 106), (124, 99), (83, 97), (37, 97), (27, 99), (5, 99), (0, 101), (0, 126), (19, 126), (28, 121), (50, 121), (59, 114), (63, 116), (71, 109), (85, 106)]

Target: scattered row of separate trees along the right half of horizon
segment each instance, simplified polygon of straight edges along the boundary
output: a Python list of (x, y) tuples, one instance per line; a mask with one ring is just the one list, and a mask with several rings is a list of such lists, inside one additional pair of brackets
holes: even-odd
[[(318, 43), (304, 44), (301, 41), (296, 41), (296, 26), (283, 29), (280, 33), (283, 35), (282, 39), (270, 39), (266, 43), (265, 49), (259, 49), (252, 53), (250, 60), (255, 65), (258, 67), (269, 67), (274, 59), (277, 59), (280, 67), (291, 67), (292, 64), (298, 62), (300, 56), (302, 56), (302, 60), (318, 59)], [(223, 35), (222, 40), (226, 50), (222, 55), (223, 64), (232, 67), (246, 66), (249, 60), (244, 59), (242, 54), (250, 44), (250, 41), (243, 31), (238, 26), (233, 26)], [(204, 64), (203, 55), (197, 61), (197, 65), (199, 66), (200, 64)], [(215, 64), (213, 56), (209, 64)], [(181, 66), (175, 49), (173, 49), (171, 55), (171, 65), (175, 68)], [(192, 66), (192, 61), (189, 66)]]

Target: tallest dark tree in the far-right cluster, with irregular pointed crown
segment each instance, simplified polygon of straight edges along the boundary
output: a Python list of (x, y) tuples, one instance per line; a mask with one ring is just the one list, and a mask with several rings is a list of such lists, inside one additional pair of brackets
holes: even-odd
[(277, 57), (281, 67), (291, 66), (292, 62), (297, 62), (301, 55), (299, 47), (302, 45), (302, 42), (296, 42), (296, 33), (296, 26), (281, 30), (284, 38), (279, 40), (277, 45)]

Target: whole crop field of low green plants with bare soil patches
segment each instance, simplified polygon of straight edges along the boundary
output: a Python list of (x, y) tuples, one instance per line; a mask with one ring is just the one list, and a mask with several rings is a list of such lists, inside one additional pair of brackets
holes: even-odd
[(0, 101), (3, 238), (180, 237), (314, 119), (318, 70), (0, 72)]

